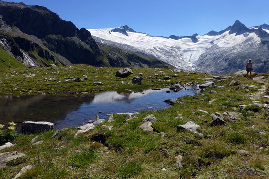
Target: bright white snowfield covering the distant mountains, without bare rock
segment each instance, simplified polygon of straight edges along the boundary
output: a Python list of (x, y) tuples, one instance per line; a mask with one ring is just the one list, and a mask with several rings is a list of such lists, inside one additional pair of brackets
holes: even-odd
[[(154, 56), (177, 68), (188, 70), (192, 70), (193, 63), (199, 59), (201, 54), (205, 53), (206, 50), (213, 45), (229, 48), (244, 43), (246, 40), (248, 40), (248, 42), (251, 41), (252, 43), (259, 43), (261, 41), (255, 33), (244, 33), (235, 36), (235, 33), (229, 34), (229, 31), (226, 31), (217, 36), (198, 35), (196, 36), (198, 41), (193, 43), (190, 38), (175, 40), (165, 37), (153, 37), (139, 32), (126, 31), (128, 34), (128, 36), (126, 36), (119, 32), (112, 32), (113, 29), (114, 28), (87, 30), (91, 32), (93, 38), (98, 37), (104, 40), (135, 47), (141, 52)], [(269, 30), (265, 29), (265, 31), (269, 33)], [(128, 49), (127, 47), (127, 50), (131, 49)]]

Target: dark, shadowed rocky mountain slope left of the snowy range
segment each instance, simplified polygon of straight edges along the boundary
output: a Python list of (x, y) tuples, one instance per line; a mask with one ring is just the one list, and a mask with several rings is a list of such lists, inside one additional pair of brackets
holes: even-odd
[[(112, 56), (101, 50), (91, 33), (64, 21), (42, 6), (0, 1), (0, 48), (10, 55), (0, 66), (18, 60), (26, 66), (89, 64), (94, 66), (168, 67), (169, 65), (134, 53)], [(111, 47), (112, 48), (112, 47)], [(104, 49), (104, 48), (102, 48)], [(127, 55), (122, 55), (123, 53)], [(128, 53), (134, 58), (129, 58)], [(137, 62), (137, 59), (145, 61)], [(113, 62), (113, 63), (110, 63)]]

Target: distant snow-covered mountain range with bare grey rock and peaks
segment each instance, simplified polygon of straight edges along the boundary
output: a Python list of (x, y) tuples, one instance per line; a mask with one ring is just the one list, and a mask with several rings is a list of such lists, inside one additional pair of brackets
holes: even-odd
[(244, 69), (251, 58), (257, 72), (269, 70), (269, 28), (266, 24), (247, 28), (237, 20), (220, 32), (184, 37), (154, 37), (135, 32), (127, 25), (88, 30), (97, 42), (157, 58), (179, 69), (233, 73)]

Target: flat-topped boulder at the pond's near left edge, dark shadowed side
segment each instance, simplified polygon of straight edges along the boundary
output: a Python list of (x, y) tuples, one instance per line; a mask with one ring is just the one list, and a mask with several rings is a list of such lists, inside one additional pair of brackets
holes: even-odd
[(53, 130), (54, 124), (52, 122), (33, 122), (25, 121), (22, 122), (21, 131), (22, 133), (36, 133), (48, 130)]

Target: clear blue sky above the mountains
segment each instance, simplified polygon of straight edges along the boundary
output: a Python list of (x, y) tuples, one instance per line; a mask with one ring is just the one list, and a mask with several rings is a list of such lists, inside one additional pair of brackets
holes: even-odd
[(269, 24), (269, 0), (4, 0), (41, 5), (78, 28), (128, 25), (153, 36), (220, 31), (239, 20)]

